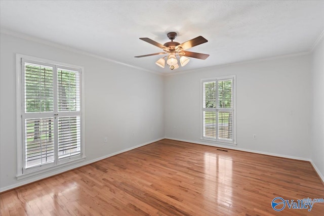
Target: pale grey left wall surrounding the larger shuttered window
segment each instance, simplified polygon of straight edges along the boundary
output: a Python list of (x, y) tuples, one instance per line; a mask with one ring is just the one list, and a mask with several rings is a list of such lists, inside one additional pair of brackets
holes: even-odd
[[(1, 191), (164, 137), (163, 76), (7, 34), (1, 34), (0, 47)], [(85, 67), (83, 163), (17, 181), (16, 53)]]

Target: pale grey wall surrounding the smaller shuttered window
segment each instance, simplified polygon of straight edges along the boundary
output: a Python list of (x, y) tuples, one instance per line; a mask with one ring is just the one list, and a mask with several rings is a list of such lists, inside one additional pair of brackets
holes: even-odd
[(213, 145), (200, 140), (200, 80), (226, 75), (236, 75), (237, 146), (233, 148), (309, 159), (309, 55), (167, 76), (166, 137)]

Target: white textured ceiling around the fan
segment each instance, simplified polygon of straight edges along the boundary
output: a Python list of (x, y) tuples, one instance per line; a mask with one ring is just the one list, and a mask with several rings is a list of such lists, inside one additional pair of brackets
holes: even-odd
[(324, 30), (324, 1), (0, 1), (1, 28), (86, 51), (149, 71), (170, 73), (134, 58), (161, 50), (175, 31), (188, 51), (210, 54), (176, 71), (308, 52)]

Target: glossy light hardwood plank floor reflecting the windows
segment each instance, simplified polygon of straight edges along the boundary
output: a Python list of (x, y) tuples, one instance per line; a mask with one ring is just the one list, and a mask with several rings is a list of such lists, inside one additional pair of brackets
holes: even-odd
[(324, 198), (307, 161), (161, 140), (0, 194), (2, 215), (324, 215), (275, 197)]

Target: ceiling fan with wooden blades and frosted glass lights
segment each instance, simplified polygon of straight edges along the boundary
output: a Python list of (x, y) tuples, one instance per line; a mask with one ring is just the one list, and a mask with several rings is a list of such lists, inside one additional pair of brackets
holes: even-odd
[(151, 45), (161, 48), (164, 52), (153, 53), (153, 54), (148, 54), (148, 55), (143, 55), (143, 56), (135, 56), (135, 57), (141, 58), (141, 57), (147, 57), (147, 56), (166, 54), (166, 56), (157, 60), (155, 62), (155, 64), (164, 68), (165, 63), (166, 63), (165, 58), (167, 58), (167, 64), (170, 66), (171, 70), (179, 68), (177, 57), (179, 57), (179, 61), (180, 61), (180, 64), (182, 67), (185, 66), (189, 62), (189, 59), (187, 57), (196, 58), (196, 59), (204, 59), (204, 60), (209, 57), (208, 54), (185, 51), (189, 48), (192, 48), (197, 45), (204, 44), (205, 42), (208, 42), (208, 40), (205, 39), (203, 36), (195, 37), (191, 40), (183, 42), (182, 44), (180, 44), (179, 42), (173, 41), (177, 36), (176, 32), (169, 32), (167, 34), (167, 36), (171, 41), (166, 42), (164, 45), (161, 45), (158, 42), (156, 42), (150, 38), (140, 37), (141, 40), (144, 40), (145, 42), (148, 42)]

